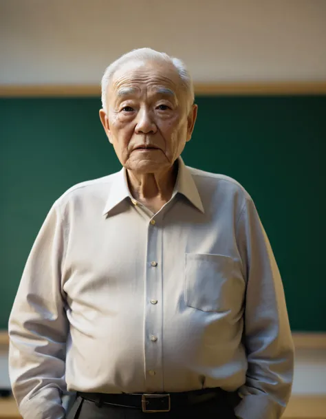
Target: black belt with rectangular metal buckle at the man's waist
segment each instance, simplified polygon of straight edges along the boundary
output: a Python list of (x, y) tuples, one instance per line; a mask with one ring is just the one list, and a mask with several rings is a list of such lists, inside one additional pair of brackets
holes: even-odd
[(162, 412), (178, 409), (187, 405), (206, 402), (213, 398), (226, 398), (228, 392), (220, 388), (208, 388), (195, 391), (184, 391), (182, 393), (161, 393), (161, 394), (101, 394), (101, 393), (80, 393), (78, 396), (95, 402), (96, 405), (113, 405), (120, 407), (133, 407), (142, 409), (144, 412)]

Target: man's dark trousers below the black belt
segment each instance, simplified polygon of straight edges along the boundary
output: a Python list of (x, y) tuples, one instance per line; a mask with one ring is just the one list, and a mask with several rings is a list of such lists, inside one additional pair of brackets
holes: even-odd
[[(239, 400), (238, 400), (239, 401)], [(212, 399), (207, 402), (187, 405), (182, 409), (160, 413), (144, 413), (140, 409), (116, 407), (111, 405), (97, 406), (95, 402), (78, 396), (67, 415), (67, 419), (236, 419), (235, 402)]]

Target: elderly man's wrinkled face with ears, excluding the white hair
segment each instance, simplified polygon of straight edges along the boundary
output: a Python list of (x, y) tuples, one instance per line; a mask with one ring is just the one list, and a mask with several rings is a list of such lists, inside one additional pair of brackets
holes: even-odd
[(100, 118), (123, 166), (136, 173), (169, 169), (191, 139), (197, 106), (169, 63), (129, 62), (113, 75)]

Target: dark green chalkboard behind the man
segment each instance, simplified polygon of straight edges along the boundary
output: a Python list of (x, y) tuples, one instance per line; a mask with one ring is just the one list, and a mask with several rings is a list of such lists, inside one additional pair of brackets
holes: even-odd
[[(252, 195), (281, 270), (292, 330), (326, 330), (326, 96), (198, 97), (186, 164)], [(0, 100), (0, 328), (50, 206), (120, 169), (100, 98)]]

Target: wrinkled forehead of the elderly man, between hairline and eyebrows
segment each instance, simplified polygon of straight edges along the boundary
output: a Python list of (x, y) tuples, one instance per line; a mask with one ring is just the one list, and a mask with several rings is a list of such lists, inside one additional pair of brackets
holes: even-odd
[(177, 69), (170, 63), (129, 61), (113, 74), (109, 96), (117, 98), (144, 89), (164, 96), (179, 96), (181, 87)]

